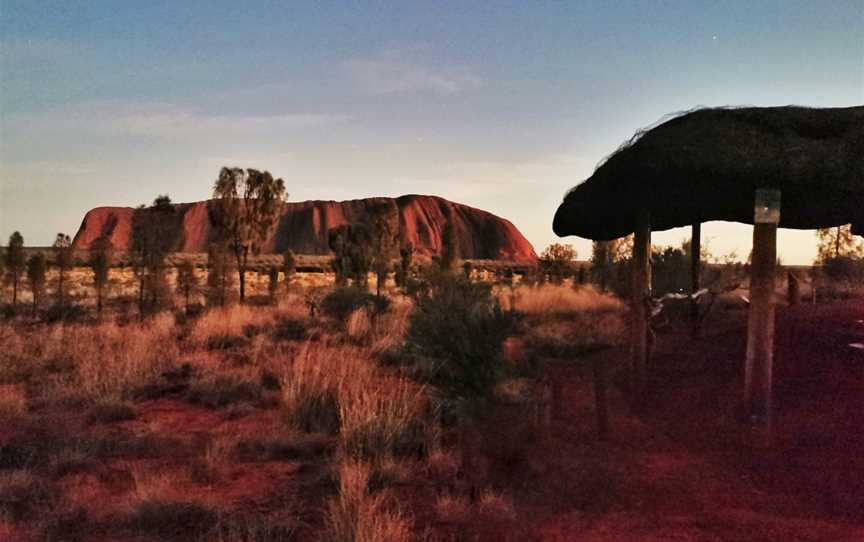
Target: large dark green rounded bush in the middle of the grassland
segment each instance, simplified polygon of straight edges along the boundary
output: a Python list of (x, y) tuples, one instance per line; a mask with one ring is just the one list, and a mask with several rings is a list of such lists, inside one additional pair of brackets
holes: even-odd
[(486, 395), (504, 368), (501, 345), (512, 319), (492, 296), (491, 285), (439, 274), (418, 295), (406, 346), (427, 360), (428, 377), (447, 395)]

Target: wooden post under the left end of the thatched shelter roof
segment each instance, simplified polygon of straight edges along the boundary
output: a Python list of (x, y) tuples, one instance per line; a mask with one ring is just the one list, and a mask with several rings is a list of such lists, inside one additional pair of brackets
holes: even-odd
[(648, 299), (651, 296), (651, 216), (644, 209), (636, 215), (632, 266), (630, 368), (633, 393), (638, 402), (645, 392), (648, 373), (648, 333), (651, 317), (648, 312)]

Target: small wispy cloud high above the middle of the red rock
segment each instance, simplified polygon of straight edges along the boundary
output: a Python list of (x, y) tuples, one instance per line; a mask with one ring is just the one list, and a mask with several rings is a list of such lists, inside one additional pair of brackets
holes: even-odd
[(342, 68), (365, 92), (372, 94), (460, 94), (483, 86), (483, 80), (464, 66), (445, 66), (416, 58), (417, 48), (392, 49), (342, 63)]

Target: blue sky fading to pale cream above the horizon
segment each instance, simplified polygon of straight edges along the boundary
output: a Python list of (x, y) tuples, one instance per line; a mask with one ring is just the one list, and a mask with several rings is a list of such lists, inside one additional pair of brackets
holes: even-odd
[[(864, 0), (0, 0), (0, 242), (202, 200), (241, 166), (294, 201), (440, 195), (587, 258), (552, 217), (634, 132), (786, 104), (864, 104)], [(703, 239), (746, 258), (751, 232)], [(810, 263), (814, 232), (781, 230), (779, 252)]]

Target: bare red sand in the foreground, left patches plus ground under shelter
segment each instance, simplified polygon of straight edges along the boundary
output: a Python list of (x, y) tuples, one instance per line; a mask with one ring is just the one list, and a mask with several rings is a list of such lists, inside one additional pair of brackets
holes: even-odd
[[(430, 541), (864, 540), (864, 352), (848, 346), (864, 342), (862, 320), (860, 301), (778, 310), (769, 449), (735, 420), (746, 313), (734, 311), (719, 315), (701, 340), (683, 330), (658, 336), (656, 391), (646, 414), (631, 414), (612, 392), (613, 432), (605, 442), (593, 427), (584, 370), (590, 358), (550, 363), (562, 400), (545, 437), (526, 436), (524, 408), (494, 413), (481, 426), (486, 454), (478, 465), (488, 473), (481, 483), (513, 498), (515, 521), (472, 513), (470, 525), (441, 523), (436, 498), (467, 486), (434, 473), (397, 488), (400, 500), (421, 528), (430, 528)], [(595, 356), (610, 365), (626, 359), (623, 349)], [(191, 474), (200, 462), (194, 458), (218, 435), (267, 435), (282, 426), (277, 411), (231, 419), (176, 398), (138, 410), (136, 420), (91, 430), (170, 436), (180, 447), (167, 459), (120, 459), (67, 475), (60, 484), (91, 517), (128, 506), (134, 473), (162, 472), (184, 500), (241, 513), (287, 510), (308, 525), (301, 539), (320, 532), (332, 490), (320, 459), (217, 462), (213, 482)], [(118, 536), (90, 534), (93, 541)], [(0, 540), (28, 538), (0, 522)]]

